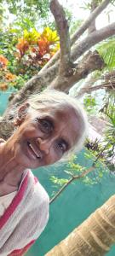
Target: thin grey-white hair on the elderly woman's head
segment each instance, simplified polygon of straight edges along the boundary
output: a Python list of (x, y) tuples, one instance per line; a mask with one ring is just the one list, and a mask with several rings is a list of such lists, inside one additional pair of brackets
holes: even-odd
[(72, 96), (66, 95), (66, 93), (58, 90), (43, 90), (40, 94), (30, 96), (27, 101), (31, 108), (40, 109), (48, 106), (54, 108), (59, 108), (62, 104), (67, 104), (71, 106), (78, 118), (79, 124), (81, 126), (80, 134), (77, 141), (74, 143), (73, 147), (67, 152), (72, 153), (73, 151), (79, 151), (83, 148), (84, 139), (88, 132), (88, 121), (86, 113), (84, 112), (82, 106), (79, 104), (78, 100)]

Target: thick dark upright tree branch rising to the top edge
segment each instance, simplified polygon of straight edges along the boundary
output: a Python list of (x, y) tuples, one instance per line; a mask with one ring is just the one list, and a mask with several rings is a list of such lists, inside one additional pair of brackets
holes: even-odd
[(55, 17), (56, 26), (60, 35), (60, 69), (59, 75), (64, 76), (70, 66), (70, 35), (65, 12), (57, 0), (52, 0), (50, 9)]

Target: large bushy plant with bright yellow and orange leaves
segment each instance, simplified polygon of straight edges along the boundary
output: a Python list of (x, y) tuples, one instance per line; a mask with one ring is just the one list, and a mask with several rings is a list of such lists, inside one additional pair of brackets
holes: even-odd
[(21, 65), (21, 73), (32, 68), (32, 74), (39, 71), (49, 61), (52, 55), (60, 48), (59, 37), (56, 31), (45, 27), (42, 33), (32, 29), (24, 31), (23, 38), (19, 38), (16, 44), (16, 58)]

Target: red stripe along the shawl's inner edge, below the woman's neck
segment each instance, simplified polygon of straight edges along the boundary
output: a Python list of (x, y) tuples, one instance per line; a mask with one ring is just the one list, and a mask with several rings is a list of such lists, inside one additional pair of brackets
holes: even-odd
[(28, 176), (29, 176), (29, 172), (27, 172), (26, 177), (21, 183), (20, 189), (17, 195), (14, 196), (13, 201), (4, 212), (3, 216), (0, 218), (0, 229), (3, 228), (3, 225), (6, 224), (6, 222), (9, 220), (10, 216), (12, 215), (16, 207), (18, 207), (18, 205), (20, 204), (20, 201), (23, 199), (23, 196), (25, 195), (27, 184), (28, 184)]

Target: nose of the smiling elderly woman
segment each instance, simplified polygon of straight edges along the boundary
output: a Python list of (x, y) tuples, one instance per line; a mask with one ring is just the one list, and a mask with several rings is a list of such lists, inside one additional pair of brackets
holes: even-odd
[(49, 154), (49, 150), (50, 150), (51, 145), (52, 145), (51, 140), (37, 138), (37, 144), (38, 144), (38, 147), (41, 151), (45, 152), (45, 154)]

